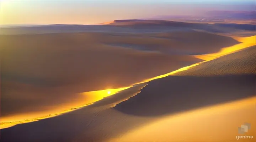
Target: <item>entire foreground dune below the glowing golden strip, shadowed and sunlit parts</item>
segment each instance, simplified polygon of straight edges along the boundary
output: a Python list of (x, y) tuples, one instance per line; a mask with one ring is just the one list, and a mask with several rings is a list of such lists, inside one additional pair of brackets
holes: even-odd
[[(63, 115), (1, 129), (1, 141), (237, 141), (244, 122), (253, 126), (248, 135), (256, 130), (251, 52), (255, 46), (192, 67), (207, 68), (204, 75), (188, 69)], [(213, 75), (215, 68), (224, 73)]]

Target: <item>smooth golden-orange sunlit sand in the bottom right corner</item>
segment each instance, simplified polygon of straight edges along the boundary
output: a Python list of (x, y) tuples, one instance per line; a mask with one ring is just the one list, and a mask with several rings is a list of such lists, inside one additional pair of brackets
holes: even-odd
[[(138, 127), (111, 142), (254, 142), (256, 98), (242, 99), (167, 115)], [(241, 135), (238, 127), (245, 122), (251, 129)], [(253, 138), (239, 139), (239, 136)]]

